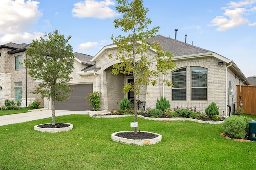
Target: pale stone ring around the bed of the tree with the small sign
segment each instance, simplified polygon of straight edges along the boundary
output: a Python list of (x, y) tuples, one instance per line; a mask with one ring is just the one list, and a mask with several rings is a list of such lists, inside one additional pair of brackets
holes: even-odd
[[(129, 131), (120, 131), (116, 133), (122, 133), (122, 132), (129, 132)], [(146, 132), (146, 131), (141, 131), (141, 132)], [(158, 133), (152, 133), (152, 132), (146, 132), (146, 133), (152, 133), (152, 134), (158, 135), (158, 137), (153, 139), (127, 139), (127, 138), (116, 136), (116, 133), (111, 134), (112, 140), (120, 143), (125, 143), (128, 145), (131, 145), (131, 144), (139, 145), (139, 146), (153, 145), (153, 144), (159, 143), (162, 140), (162, 135), (159, 135)]]

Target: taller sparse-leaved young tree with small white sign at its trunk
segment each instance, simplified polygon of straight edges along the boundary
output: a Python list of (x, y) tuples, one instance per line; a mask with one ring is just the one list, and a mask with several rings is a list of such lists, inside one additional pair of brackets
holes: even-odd
[[(148, 29), (151, 20), (146, 18), (148, 8), (143, 7), (142, 0), (116, 0), (119, 6), (116, 10), (122, 13), (122, 18), (114, 20), (114, 27), (119, 28), (127, 35), (118, 35), (111, 39), (118, 47), (115, 58), (120, 63), (114, 64), (112, 74), (128, 74), (134, 77), (134, 84), (126, 84), (124, 93), (134, 92), (134, 117), (137, 122), (137, 96), (141, 86), (148, 86), (150, 83), (156, 85), (156, 78), (160, 72), (167, 75), (167, 71), (175, 68), (172, 62), (172, 53), (163, 51), (159, 43), (150, 45), (147, 40), (154, 37), (160, 27)], [(109, 55), (112, 58), (112, 54)], [(164, 80), (168, 86), (172, 86), (169, 80)], [(137, 134), (134, 128), (134, 134)]]

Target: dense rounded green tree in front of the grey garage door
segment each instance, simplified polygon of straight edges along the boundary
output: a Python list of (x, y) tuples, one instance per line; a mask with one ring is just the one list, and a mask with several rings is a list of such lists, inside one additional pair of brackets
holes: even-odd
[(42, 80), (33, 94), (52, 99), (52, 125), (55, 125), (55, 101), (67, 100), (72, 90), (67, 82), (72, 80), (69, 74), (74, 66), (72, 46), (68, 44), (71, 36), (65, 39), (58, 30), (33, 40), (26, 50), (28, 59), (24, 60), (28, 74), (34, 80)]

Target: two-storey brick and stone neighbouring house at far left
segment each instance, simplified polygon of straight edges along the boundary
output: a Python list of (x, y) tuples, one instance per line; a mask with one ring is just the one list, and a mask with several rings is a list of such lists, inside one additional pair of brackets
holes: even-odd
[(30, 93), (38, 82), (27, 75), (27, 69), (22, 62), (27, 58), (25, 50), (28, 46), (25, 43), (0, 45), (0, 106), (4, 105), (6, 99), (20, 101), (22, 107), (39, 100), (44, 106), (40, 95)]

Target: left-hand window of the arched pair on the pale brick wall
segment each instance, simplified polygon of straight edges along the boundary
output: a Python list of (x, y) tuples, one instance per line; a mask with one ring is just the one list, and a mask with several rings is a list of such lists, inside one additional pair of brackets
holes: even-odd
[(172, 100), (186, 100), (186, 68), (172, 72)]

